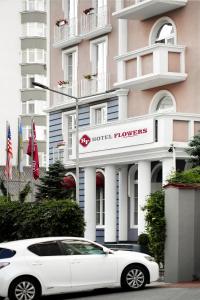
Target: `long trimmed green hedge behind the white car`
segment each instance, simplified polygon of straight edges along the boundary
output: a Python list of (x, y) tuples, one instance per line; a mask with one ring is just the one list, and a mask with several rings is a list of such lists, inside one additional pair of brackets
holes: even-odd
[(0, 242), (42, 236), (83, 236), (83, 212), (73, 200), (0, 202)]

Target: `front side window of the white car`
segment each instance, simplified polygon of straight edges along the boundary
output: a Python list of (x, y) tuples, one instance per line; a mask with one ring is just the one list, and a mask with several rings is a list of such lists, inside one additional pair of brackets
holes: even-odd
[(65, 255), (105, 254), (103, 248), (88, 241), (64, 240), (61, 244)]

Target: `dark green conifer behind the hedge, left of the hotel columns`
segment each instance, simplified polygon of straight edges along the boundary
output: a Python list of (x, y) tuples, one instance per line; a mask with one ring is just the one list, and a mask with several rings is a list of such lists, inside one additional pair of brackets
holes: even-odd
[(60, 161), (49, 166), (49, 170), (40, 178), (37, 185), (37, 200), (61, 200), (72, 197), (72, 191), (66, 189), (63, 178), (67, 170)]

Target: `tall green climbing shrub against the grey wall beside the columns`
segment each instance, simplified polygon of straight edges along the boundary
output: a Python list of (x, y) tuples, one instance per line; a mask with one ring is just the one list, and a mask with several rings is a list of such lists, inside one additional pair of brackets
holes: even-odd
[(166, 231), (164, 200), (164, 191), (157, 191), (148, 197), (144, 207), (149, 250), (159, 264), (164, 264)]

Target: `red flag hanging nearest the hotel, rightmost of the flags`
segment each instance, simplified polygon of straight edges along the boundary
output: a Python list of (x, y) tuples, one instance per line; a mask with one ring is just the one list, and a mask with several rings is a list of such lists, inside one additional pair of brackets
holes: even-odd
[[(33, 140), (33, 144), (32, 144), (32, 140)], [(38, 179), (39, 178), (39, 156), (38, 156), (38, 146), (36, 140), (35, 123), (33, 120), (31, 122), (31, 136), (29, 137), (28, 148), (26, 153), (32, 157), (33, 177), (34, 179)]]

